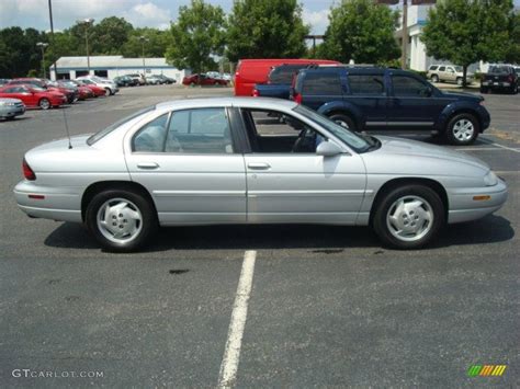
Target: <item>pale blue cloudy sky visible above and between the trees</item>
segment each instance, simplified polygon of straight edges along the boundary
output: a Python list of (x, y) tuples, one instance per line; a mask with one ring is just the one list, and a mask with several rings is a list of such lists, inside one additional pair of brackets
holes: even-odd
[[(106, 16), (125, 18), (136, 27), (167, 28), (176, 21), (179, 5), (190, 0), (52, 0), (55, 30), (65, 30), (77, 20)], [(336, 0), (340, 1), (340, 0)], [(206, 0), (221, 5), (226, 13), (233, 0)], [(328, 12), (335, 0), (299, 0), (303, 18), (313, 34), (324, 34), (328, 24)], [(515, 0), (517, 7), (520, 0)], [(49, 30), (48, 0), (0, 0), (0, 28), (18, 25), (23, 28)]]

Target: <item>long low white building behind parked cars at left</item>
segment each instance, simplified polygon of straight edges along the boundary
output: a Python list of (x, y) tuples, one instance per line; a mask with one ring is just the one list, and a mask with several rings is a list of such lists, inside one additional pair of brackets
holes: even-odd
[[(58, 79), (75, 79), (77, 77), (89, 75), (87, 57), (61, 57), (56, 61)], [(117, 76), (145, 73), (165, 75), (182, 82), (184, 76), (190, 75), (189, 70), (179, 70), (166, 62), (165, 58), (123, 58), (123, 56), (91, 56), (90, 75), (106, 77), (113, 79)], [(49, 68), (49, 75), (53, 80), (56, 79), (54, 66)]]

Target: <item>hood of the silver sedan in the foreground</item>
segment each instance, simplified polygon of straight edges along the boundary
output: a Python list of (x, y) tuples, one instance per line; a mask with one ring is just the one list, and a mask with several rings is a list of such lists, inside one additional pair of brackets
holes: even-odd
[(486, 171), (489, 170), (489, 165), (478, 158), (445, 147), (429, 145), (425, 144), (423, 141), (393, 138), (387, 136), (377, 136), (377, 139), (380, 139), (382, 142), (380, 150), (385, 155), (400, 155), (412, 158), (426, 157), (450, 160), (457, 163), (470, 164), (474, 168), (479, 168)]

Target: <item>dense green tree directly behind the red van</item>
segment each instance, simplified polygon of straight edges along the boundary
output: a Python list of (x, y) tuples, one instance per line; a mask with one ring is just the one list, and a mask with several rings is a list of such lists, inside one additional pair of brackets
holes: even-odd
[(228, 18), (227, 57), (297, 58), (306, 54), (308, 32), (296, 0), (236, 0)]

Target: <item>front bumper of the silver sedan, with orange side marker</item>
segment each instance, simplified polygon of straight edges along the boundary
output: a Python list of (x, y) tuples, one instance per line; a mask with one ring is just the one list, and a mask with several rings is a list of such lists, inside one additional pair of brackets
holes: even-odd
[[(475, 201), (475, 196), (489, 196), (489, 198)], [(455, 224), (481, 219), (500, 209), (507, 197), (507, 184), (500, 179), (494, 186), (450, 190), (448, 191), (450, 204), (448, 222)]]

